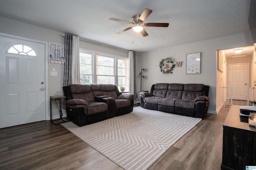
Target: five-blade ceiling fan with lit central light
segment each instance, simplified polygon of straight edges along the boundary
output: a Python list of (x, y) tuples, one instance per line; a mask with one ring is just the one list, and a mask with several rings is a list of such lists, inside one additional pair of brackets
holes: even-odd
[(148, 18), (148, 16), (151, 14), (152, 10), (145, 8), (145, 10), (142, 12), (142, 14), (137, 14), (132, 16), (132, 22), (125, 21), (125, 20), (119, 20), (116, 18), (110, 18), (109, 20), (112, 21), (119, 21), (119, 22), (125, 22), (130, 23), (133, 26), (128, 27), (126, 29), (123, 29), (122, 31), (117, 32), (117, 34), (123, 33), (124, 31), (127, 31), (129, 29), (133, 29), (136, 32), (140, 32), (144, 37), (148, 36), (148, 33), (144, 29), (144, 27), (168, 27), (169, 23), (144, 23), (143, 22)]

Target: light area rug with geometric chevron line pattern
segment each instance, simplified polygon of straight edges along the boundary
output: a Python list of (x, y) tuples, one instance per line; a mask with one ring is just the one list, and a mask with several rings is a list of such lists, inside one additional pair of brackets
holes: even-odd
[(143, 170), (201, 120), (134, 107), (126, 115), (83, 127), (61, 125), (122, 168)]

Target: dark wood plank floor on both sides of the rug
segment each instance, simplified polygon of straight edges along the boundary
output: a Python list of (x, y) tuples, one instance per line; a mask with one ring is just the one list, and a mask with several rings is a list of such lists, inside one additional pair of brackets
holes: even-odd
[[(247, 105), (246, 101), (233, 101)], [(150, 170), (220, 170), (222, 124), (229, 111), (206, 114), (200, 123), (179, 139)], [(0, 129), (0, 169), (119, 170), (73, 133), (50, 121)]]

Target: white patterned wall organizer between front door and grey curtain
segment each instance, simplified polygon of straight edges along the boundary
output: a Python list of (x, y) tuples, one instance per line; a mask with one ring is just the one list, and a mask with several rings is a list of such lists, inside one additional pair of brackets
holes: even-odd
[(64, 45), (48, 43), (49, 63), (64, 64)]

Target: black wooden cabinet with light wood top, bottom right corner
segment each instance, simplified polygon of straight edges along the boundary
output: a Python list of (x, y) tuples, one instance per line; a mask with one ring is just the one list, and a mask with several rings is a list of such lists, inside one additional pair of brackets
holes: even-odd
[(232, 105), (223, 125), (222, 170), (243, 170), (256, 166), (256, 127), (248, 117), (240, 117), (239, 106)]

